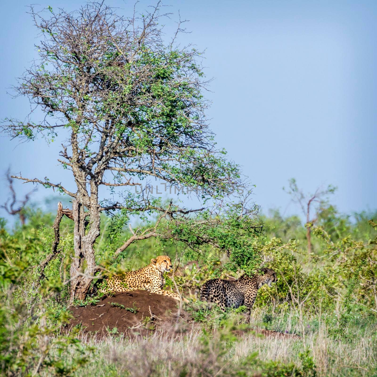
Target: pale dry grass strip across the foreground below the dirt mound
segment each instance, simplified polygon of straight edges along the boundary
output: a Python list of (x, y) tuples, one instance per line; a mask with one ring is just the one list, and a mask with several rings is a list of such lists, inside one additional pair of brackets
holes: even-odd
[[(261, 312), (253, 313), (253, 323), (261, 326)], [(272, 324), (273, 327), (274, 324)], [(282, 321), (276, 321), (282, 326)], [(288, 315), (284, 327), (299, 333), (301, 326)], [(281, 328), (281, 327), (280, 327)], [(257, 359), (301, 366), (299, 353), (310, 349), (316, 365), (317, 376), (372, 376), (377, 372), (377, 326), (366, 326), (353, 337), (335, 339), (328, 334), (325, 322), (309, 329), (303, 337), (261, 337), (252, 332), (244, 333), (236, 341), (227, 331), (207, 329), (203, 335), (197, 323), (181, 332), (177, 326), (157, 330), (147, 339), (127, 339), (123, 335), (96, 341), (87, 335), (82, 341), (96, 347), (95, 354), (88, 354), (90, 362), (80, 369), (80, 376), (199, 376), (230, 375), (229, 371), (244, 368), (245, 375), (257, 375), (261, 363), (245, 366), (245, 360), (257, 352)], [(363, 334), (361, 335), (361, 333)], [(48, 375), (48, 374), (46, 374)]]

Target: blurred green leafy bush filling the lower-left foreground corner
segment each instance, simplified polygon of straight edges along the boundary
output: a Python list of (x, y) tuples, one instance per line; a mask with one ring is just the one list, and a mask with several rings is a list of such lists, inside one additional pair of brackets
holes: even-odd
[[(82, 344), (75, 332), (58, 335), (70, 314), (64, 307), (58, 311), (56, 298), (66, 282), (59, 274), (38, 284), (40, 258), (51, 243), (43, 224), (35, 230), (33, 224), (14, 235), (4, 227), (0, 230), (0, 363), (6, 375), (32, 375), (41, 369), (57, 375), (72, 374), (88, 361), (92, 348)], [(29, 237), (25, 238), (25, 234)], [(58, 276), (58, 277), (57, 277)], [(55, 304), (54, 304), (55, 302)], [(11, 308), (11, 310), (9, 310)], [(51, 354), (50, 350), (56, 353)], [(70, 359), (62, 355), (74, 350)]]

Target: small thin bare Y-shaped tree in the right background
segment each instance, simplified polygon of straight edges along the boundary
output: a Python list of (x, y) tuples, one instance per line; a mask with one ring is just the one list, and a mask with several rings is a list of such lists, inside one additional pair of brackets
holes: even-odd
[[(285, 188), (283, 187), (283, 190)], [(336, 187), (328, 185), (326, 189), (318, 187), (313, 194), (305, 195), (303, 190), (297, 186), (296, 179), (291, 178), (289, 181), (289, 189), (285, 190), (292, 197), (292, 201), (299, 204), (303, 215), (306, 218), (305, 227), (307, 228), (306, 238), (308, 241), (308, 254), (312, 252), (311, 230), (318, 220), (320, 210), (326, 204), (329, 194), (333, 194)], [(314, 211), (314, 213), (313, 213)]]

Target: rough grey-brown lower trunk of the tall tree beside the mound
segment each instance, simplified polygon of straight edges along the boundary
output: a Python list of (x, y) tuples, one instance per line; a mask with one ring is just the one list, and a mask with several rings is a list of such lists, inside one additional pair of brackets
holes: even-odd
[[(93, 195), (92, 195), (93, 196)], [(95, 255), (93, 245), (97, 237), (100, 235), (100, 212), (96, 198), (90, 198), (89, 211), (84, 211), (84, 205), (78, 196), (73, 201), (72, 211), (75, 222), (74, 227), (74, 252), (70, 267), (70, 300), (84, 300), (93, 276), (98, 271), (95, 263)], [(86, 216), (89, 215), (89, 229), (86, 231)]]

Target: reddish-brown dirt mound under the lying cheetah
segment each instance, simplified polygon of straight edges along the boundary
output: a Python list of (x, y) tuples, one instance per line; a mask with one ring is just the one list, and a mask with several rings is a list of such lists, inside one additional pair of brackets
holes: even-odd
[(96, 305), (73, 308), (74, 319), (67, 329), (80, 325), (84, 333), (98, 336), (120, 333), (144, 336), (175, 319), (178, 304), (171, 297), (148, 291), (117, 293)]

